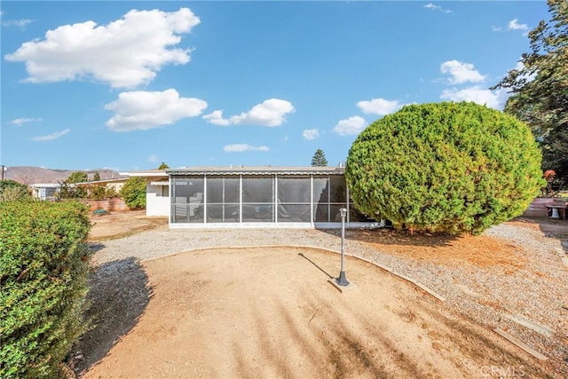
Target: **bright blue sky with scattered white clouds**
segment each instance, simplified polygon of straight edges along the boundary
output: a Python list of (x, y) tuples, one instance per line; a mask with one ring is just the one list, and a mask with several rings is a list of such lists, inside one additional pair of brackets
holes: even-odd
[(489, 91), (539, 2), (16, 2), (1, 16), (7, 166), (344, 162), (367, 125)]

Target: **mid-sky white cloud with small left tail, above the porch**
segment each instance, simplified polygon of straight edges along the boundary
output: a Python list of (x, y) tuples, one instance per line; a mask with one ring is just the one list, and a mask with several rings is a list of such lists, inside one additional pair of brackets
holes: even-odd
[(260, 125), (280, 126), (286, 122), (286, 115), (294, 112), (294, 106), (287, 100), (268, 99), (252, 107), (248, 112), (223, 118), (223, 111), (205, 114), (203, 119), (214, 125)]

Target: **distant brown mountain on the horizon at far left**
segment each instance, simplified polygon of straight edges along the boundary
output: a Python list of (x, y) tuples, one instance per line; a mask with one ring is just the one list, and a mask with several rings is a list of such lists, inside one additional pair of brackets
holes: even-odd
[[(4, 170), (4, 179), (13, 179), (25, 185), (33, 185), (38, 183), (59, 183), (79, 170), (51, 170), (43, 169), (42, 167), (34, 166), (11, 166)], [(100, 170), (85, 170), (89, 175), (89, 180), (99, 172), (101, 179), (120, 178), (121, 175), (117, 171), (100, 169)]]

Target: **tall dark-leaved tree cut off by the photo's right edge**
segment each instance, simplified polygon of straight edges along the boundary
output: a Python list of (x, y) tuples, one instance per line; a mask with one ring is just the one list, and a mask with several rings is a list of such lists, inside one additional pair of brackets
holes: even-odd
[(527, 122), (542, 150), (542, 170), (568, 178), (568, 3), (548, 0), (551, 20), (529, 33), (531, 51), (522, 67), (495, 88), (512, 92), (505, 112)]

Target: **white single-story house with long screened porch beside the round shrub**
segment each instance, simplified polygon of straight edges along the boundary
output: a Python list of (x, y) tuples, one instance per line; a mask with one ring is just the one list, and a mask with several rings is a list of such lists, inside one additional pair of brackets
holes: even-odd
[[(383, 225), (351, 201), (343, 167), (201, 167), (131, 171), (146, 178), (146, 215), (170, 228)], [(373, 215), (375, 216), (375, 215)]]

